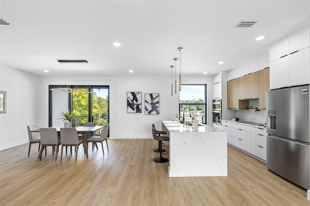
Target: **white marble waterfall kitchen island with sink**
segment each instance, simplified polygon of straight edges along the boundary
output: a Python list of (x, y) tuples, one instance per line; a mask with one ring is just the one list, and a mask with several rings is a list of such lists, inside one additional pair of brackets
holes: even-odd
[(162, 121), (162, 130), (170, 137), (169, 177), (227, 176), (227, 132), (173, 120)]

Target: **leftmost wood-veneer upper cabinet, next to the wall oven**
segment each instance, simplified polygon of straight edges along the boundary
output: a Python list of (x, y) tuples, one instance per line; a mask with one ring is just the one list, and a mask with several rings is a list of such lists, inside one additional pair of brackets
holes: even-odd
[(227, 108), (239, 108), (239, 78), (227, 82)]

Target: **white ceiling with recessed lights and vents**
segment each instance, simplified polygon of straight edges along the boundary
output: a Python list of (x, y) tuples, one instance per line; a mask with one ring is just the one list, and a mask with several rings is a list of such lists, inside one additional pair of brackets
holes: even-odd
[[(309, 26), (309, 14), (309, 0), (1, 0), (12, 25), (0, 27), (0, 60), (38, 75), (169, 76), (182, 46), (183, 75), (214, 75), (267, 54)], [(259, 22), (234, 28), (240, 20)]]

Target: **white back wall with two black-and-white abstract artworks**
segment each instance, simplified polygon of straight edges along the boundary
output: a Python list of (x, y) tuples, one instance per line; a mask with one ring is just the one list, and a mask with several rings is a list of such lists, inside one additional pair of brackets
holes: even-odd
[[(43, 94), (45, 96), (45, 108), (42, 112), (44, 124), (48, 125), (48, 85), (58, 84), (79, 84), (79, 85), (109, 85), (110, 86), (110, 138), (153, 138), (151, 133), (152, 123), (156, 129), (161, 129), (161, 120), (175, 119), (178, 113), (179, 97), (171, 96), (171, 77), (108, 77), (108, 76), (88, 76), (76, 79), (67, 79), (57, 76), (44, 77)], [(91, 81), (89, 79), (92, 79)], [(182, 77), (183, 84), (207, 84), (208, 105), (212, 105), (212, 78), (211, 77)], [(47, 92), (46, 92), (47, 91)], [(127, 113), (127, 92), (142, 92), (142, 113)], [(144, 114), (144, 94), (159, 93), (159, 115)], [(208, 109), (208, 124), (212, 125), (211, 108)]]

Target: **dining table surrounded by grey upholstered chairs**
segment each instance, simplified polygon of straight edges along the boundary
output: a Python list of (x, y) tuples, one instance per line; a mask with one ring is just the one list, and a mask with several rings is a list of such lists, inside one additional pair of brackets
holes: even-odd
[[(58, 134), (60, 135), (60, 128), (63, 127), (53, 127), (56, 128)], [(101, 130), (103, 128), (103, 126), (78, 126), (75, 127), (77, 129), (78, 134), (82, 134), (83, 135), (83, 142), (84, 142), (84, 151), (86, 154), (86, 158), (88, 158), (88, 144), (87, 144), (87, 134), (91, 133), (92, 135), (94, 134), (94, 132)], [(40, 129), (38, 130), (32, 130), (30, 132), (40, 132)]]

